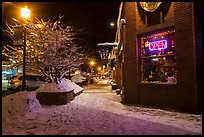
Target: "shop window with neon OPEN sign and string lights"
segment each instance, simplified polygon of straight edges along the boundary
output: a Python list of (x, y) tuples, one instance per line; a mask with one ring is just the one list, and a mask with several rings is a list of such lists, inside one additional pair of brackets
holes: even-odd
[(139, 43), (141, 82), (176, 84), (175, 30), (142, 34)]

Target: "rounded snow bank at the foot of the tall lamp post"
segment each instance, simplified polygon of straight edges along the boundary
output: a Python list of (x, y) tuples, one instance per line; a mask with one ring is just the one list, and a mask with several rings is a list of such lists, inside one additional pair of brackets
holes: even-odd
[(2, 98), (2, 120), (40, 109), (41, 105), (32, 92), (17, 92)]

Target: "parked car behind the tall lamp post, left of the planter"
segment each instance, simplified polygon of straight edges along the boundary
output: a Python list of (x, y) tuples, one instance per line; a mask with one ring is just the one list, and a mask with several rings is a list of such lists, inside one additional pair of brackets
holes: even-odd
[[(46, 82), (45, 78), (40, 75), (26, 75), (26, 90), (32, 91), (38, 89), (42, 84)], [(17, 76), (9, 80), (7, 89), (11, 89), (18, 92), (22, 89), (23, 76)]]

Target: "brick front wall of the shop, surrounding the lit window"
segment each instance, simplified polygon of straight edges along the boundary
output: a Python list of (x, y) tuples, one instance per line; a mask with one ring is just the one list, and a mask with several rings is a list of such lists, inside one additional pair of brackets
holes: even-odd
[[(137, 2), (125, 2), (123, 7), (123, 15), (126, 20), (123, 79), (126, 103), (146, 104), (192, 113), (196, 112), (199, 102), (197, 93), (197, 80), (199, 78), (196, 77), (196, 73), (199, 74), (198, 67), (201, 66), (196, 59), (200, 59), (202, 47), (196, 48), (196, 44), (199, 45), (201, 43), (199, 43), (200, 40), (195, 41), (195, 34), (199, 35), (201, 32), (198, 28), (194, 31), (193, 3), (163, 3), (157, 12), (163, 11), (161, 15), (164, 18), (161, 18), (160, 24), (153, 26), (148, 26), (145, 17), (146, 13), (139, 6)], [(137, 36), (138, 34), (169, 26), (174, 26), (176, 31), (177, 85), (140, 84), (138, 80), (139, 48)], [(195, 53), (199, 55), (195, 55)]]

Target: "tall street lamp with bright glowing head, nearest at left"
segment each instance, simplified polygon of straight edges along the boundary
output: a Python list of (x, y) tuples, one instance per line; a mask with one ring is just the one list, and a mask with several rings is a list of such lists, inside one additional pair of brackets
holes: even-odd
[[(21, 8), (21, 17), (27, 19), (30, 17), (30, 10), (27, 7)], [(26, 27), (24, 27), (24, 44), (23, 44), (23, 79), (22, 79), (22, 91), (26, 90)]]

